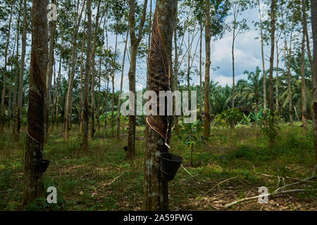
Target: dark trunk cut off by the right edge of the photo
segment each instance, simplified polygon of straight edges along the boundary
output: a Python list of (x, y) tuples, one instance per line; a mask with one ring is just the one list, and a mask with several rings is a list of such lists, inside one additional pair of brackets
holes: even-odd
[(317, 0), (311, 0), (311, 27), (313, 30), (313, 131), (315, 136), (315, 165), (317, 166)]

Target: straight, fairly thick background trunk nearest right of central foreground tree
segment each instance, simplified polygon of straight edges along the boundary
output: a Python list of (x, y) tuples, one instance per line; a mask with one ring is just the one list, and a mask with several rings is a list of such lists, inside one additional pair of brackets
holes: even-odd
[(210, 103), (209, 103), (209, 85), (210, 85), (210, 42), (211, 42), (211, 21), (210, 21), (210, 2), (206, 1), (206, 63), (205, 63), (205, 101), (204, 101), (204, 137), (210, 136)]

